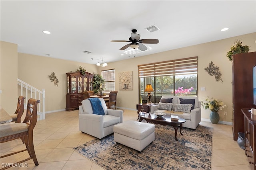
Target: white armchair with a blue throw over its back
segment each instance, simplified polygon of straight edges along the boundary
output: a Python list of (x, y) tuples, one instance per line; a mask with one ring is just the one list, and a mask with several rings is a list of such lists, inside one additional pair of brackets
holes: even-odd
[(79, 130), (98, 139), (114, 133), (114, 125), (123, 122), (123, 111), (107, 109), (104, 99), (100, 98), (105, 115), (92, 114), (90, 100), (83, 100), (79, 106)]

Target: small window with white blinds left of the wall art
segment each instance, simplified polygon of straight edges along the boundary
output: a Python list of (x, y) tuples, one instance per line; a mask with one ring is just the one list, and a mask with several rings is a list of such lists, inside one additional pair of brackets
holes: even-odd
[(104, 92), (110, 92), (115, 90), (115, 69), (102, 70), (101, 75), (105, 79), (105, 90)]

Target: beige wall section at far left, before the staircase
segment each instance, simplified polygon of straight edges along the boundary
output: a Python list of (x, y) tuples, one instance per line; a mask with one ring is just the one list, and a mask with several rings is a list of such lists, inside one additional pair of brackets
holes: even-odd
[(18, 46), (3, 41), (0, 45), (0, 105), (8, 113), (14, 113), (18, 102)]

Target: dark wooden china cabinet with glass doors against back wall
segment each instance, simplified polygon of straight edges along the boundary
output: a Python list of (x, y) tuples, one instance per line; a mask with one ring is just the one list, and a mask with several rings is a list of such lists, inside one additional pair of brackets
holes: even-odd
[(82, 92), (93, 90), (92, 81), (93, 74), (85, 72), (67, 72), (67, 94), (66, 94), (66, 110), (72, 111), (78, 109), (84, 96)]

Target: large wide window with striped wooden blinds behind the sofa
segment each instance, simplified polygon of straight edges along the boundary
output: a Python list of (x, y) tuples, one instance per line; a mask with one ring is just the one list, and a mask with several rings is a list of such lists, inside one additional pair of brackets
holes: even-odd
[(138, 65), (139, 100), (147, 100), (146, 84), (151, 84), (151, 101), (164, 95), (197, 96), (197, 57)]

